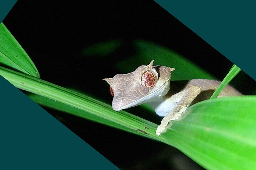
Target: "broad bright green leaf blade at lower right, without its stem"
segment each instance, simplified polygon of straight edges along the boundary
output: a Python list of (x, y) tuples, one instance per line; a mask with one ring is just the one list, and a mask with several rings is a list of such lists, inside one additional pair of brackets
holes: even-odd
[(215, 98), (185, 111), (164, 134), (207, 169), (256, 169), (256, 96)]

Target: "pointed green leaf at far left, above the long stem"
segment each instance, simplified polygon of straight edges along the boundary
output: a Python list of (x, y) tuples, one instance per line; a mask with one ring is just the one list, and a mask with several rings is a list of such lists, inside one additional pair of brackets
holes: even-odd
[(3, 23), (0, 24), (0, 63), (39, 77), (36, 66)]

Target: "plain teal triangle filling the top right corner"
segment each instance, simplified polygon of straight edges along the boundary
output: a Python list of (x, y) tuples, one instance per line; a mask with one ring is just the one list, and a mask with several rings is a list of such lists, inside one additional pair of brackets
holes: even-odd
[(254, 1), (155, 2), (256, 80)]

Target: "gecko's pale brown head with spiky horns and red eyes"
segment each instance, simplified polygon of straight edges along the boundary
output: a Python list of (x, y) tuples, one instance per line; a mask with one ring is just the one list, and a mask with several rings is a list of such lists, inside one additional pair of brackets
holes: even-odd
[(134, 72), (103, 79), (110, 85), (113, 110), (138, 106), (167, 94), (174, 68), (153, 66), (153, 62), (154, 60), (147, 66), (139, 66)]

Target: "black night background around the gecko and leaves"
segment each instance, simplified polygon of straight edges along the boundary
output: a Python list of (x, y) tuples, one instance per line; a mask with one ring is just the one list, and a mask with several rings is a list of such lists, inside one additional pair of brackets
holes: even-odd
[[(136, 39), (172, 49), (220, 80), (233, 65), (154, 1), (19, 0), (3, 22), (43, 80), (107, 103), (112, 98), (102, 79), (120, 73), (114, 65), (134, 53), (131, 42)], [(82, 55), (85, 47), (108, 40), (119, 40), (122, 46), (106, 57)], [(256, 84), (241, 72), (233, 85), (250, 95)], [(163, 143), (45, 109), (120, 169), (202, 169)]]

